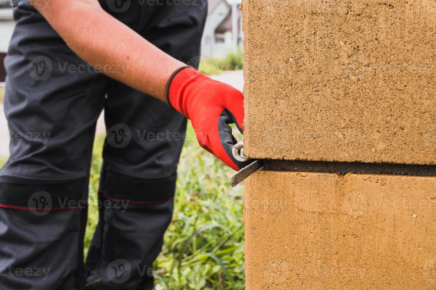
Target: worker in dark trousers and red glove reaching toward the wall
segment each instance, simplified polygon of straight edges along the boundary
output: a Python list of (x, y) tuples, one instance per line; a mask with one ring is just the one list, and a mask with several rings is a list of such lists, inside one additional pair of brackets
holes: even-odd
[[(13, 4), (4, 110), (14, 137), (0, 172), (0, 289), (152, 289), (187, 119), (201, 147), (235, 170), (245, 165), (232, 157), (229, 126), (243, 130), (242, 93), (196, 70), (207, 5)], [(83, 263), (102, 109), (102, 206)], [(150, 132), (167, 137), (147, 138)]]

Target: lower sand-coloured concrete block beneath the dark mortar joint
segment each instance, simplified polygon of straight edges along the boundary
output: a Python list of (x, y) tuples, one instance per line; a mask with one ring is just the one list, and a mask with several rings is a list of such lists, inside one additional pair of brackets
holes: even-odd
[(436, 289), (436, 177), (260, 170), (245, 181), (256, 289)]

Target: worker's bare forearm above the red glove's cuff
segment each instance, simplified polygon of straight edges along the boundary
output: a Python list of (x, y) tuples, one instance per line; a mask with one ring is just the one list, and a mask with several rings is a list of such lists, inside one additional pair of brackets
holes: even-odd
[[(167, 81), (184, 63), (106, 13), (98, 1), (52, 0), (47, 9), (38, 10), (83, 60), (104, 67), (102, 72), (109, 77), (166, 101)], [(124, 71), (115, 69), (119, 66)]]

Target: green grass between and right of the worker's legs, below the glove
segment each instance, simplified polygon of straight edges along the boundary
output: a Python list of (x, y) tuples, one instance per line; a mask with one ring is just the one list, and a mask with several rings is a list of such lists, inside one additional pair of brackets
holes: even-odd
[[(193, 134), (188, 125), (188, 135)], [(241, 140), (242, 135), (236, 136)], [(96, 138), (89, 183), (85, 253), (98, 222), (95, 206), (104, 137)], [(243, 187), (233, 170), (186, 140), (178, 169), (174, 218), (154, 263), (156, 289), (244, 289)]]

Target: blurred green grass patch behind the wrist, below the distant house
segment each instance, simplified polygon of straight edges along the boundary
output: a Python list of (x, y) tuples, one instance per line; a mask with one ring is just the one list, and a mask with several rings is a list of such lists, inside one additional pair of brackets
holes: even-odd
[(198, 70), (207, 75), (225, 73), (228, 70), (242, 70), (244, 65), (244, 51), (229, 52), (222, 59), (202, 57)]

